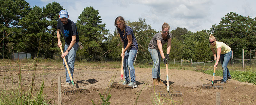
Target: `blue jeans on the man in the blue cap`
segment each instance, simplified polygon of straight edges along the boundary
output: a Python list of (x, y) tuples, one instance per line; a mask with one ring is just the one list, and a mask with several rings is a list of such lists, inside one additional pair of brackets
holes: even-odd
[[(68, 47), (69, 47), (69, 44), (65, 44), (64, 52), (68, 49)], [(69, 50), (68, 55), (65, 56), (72, 78), (73, 78), (73, 73), (74, 73), (75, 55), (76, 55), (77, 49), (78, 49), (78, 43), (75, 43), (74, 46), (72, 47), (72, 49)], [(66, 82), (71, 83), (69, 73), (68, 73), (64, 59), (63, 59), (63, 65), (66, 69)]]

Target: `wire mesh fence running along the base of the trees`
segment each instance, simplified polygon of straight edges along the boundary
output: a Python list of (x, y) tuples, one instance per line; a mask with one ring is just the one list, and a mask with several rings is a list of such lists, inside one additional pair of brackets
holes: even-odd
[[(37, 53), (24, 53), (20, 52), (18, 54), (13, 53), (4, 53), (0, 56), (0, 59), (33, 59), (37, 56)], [(38, 57), (41, 59), (51, 59), (53, 61), (62, 61), (61, 53), (38, 53)], [(108, 56), (80, 56), (76, 55), (76, 61), (88, 61), (88, 62), (108, 62), (108, 61), (121, 61), (120, 58), (111, 58)], [(152, 59), (140, 59), (136, 58), (136, 63), (149, 64), (152, 65)], [(194, 62), (193, 59), (184, 60), (184, 59), (170, 59), (168, 61), (169, 64), (176, 64), (186, 67), (196, 67), (196, 66), (213, 66), (214, 61), (206, 61), (204, 62)], [(233, 56), (229, 61), (229, 66), (234, 67), (243, 67), (243, 59), (241, 56)], [(244, 67), (256, 67), (256, 58), (254, 56), (244, 56)]]

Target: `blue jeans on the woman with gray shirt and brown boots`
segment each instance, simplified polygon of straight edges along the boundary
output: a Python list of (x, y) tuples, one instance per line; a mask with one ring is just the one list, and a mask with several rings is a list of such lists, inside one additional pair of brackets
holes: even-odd
[(153, 67), (152, 67), (152, 78), (160, 78), (160, 61), (161, 55), (160, 51), (156, 49), (149, 49), (151, 58), (153, 60)]

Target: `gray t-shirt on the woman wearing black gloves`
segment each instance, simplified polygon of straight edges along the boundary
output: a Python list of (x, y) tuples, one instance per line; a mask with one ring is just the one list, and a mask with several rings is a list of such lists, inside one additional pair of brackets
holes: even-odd
[(162, 35), (161, 35), (161, 32), (158, 32), (154, 35), (154, 37), (151, 39), (151, 41), (149, 42), (149, 49), (156, 49), (156, 50), (159, 50), (158, 49), (158, 46), (157, 46), (157, 41), (156, 40), (160, 40), (161, 43), (162, 43), (162, 46), (168, 42), (168, 39), (170, 39), (172, 37), (172, 34), (171, 32), (169, 32), (169, 34), (167, 35), (167, 38), (166, 38), (166, 41), (164, 41)]

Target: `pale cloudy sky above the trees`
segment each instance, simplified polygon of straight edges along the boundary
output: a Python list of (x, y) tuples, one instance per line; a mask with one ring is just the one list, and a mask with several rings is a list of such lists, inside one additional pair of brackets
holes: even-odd
[(58, 2), (69, 12), (69, 19), (76, 23), (85, 7), (99, 11), (105, 29), (115, 29), (114, 20), (123, 16), (125, 20), (137, 21), (145, 18), (153, 29), (161, 31), (164, 22), (171, 26), (186, 28), (191, 32), (210, 29), (227, 13), (256, 17), (255, 0), (26, 0), (30, 7), (46, 7)]

